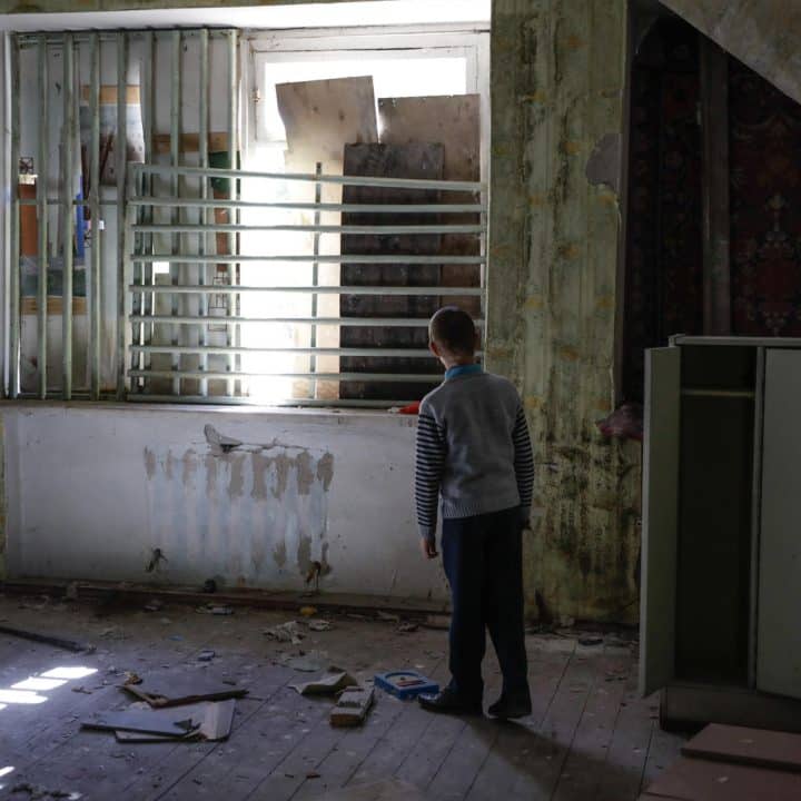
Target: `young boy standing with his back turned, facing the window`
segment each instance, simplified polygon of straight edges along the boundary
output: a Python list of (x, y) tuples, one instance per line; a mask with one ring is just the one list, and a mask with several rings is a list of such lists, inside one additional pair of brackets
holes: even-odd
[(503, 690), (496, 718), (531, 713), (523, 623), (522, 532), (528, 525), (534, 463), (525, 413), (505, 378), (475, 364), (476, 329), (466, 312), (446, 306), (432, 317), (429, 347), (445, 380), (423, 398), (417, 425), (415, 500), (421, 545), (442, 551), (451, 585), (452, 679), (422, 695), (433, 712), (481, 714), (485, 630), (495, 646)]

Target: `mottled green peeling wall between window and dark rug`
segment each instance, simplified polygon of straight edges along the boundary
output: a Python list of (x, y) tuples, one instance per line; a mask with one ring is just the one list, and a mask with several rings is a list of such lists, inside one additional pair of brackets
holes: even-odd
[[(164, 4), (0, 0), (6, 11)], [(538, 592), (557, 619), (637, 612), (640, 448), (595, 427), (615, 402), (625, 63), (625, 0), (494, 2), (488, 364), (525, 397), (542, 508), (528, 610)]]

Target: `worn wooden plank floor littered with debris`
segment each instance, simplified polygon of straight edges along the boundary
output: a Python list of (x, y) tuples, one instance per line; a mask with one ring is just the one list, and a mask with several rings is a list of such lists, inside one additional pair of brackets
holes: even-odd
[[(413, 666), (443, 681), (447, 634), (399, 633), (393, 622), (339, 616), (334, 630), (309, 633), (300, 646), (264, 636), (291, 619), (0, 597), (6, 625), (97, 646), (72, 654), (0, 635), (0, 798), (30, 798), (30, 790), (12, 792), (28, 783), (89, 801), (301, 801), (395, 777), (443, 801), (626, 801), (678, 755), (681, 741), (659, 729), (655, 700), (636, 698), (635, 646), (581, 645), (571, 636), (527, 637), (534, 712), (522, 722), (432, 715), (377, 693), (363, 728), (332, 729), (330, 701), (287, 686), (314, 675), (283, 664), (287, 655), (303, 650), (362, 679)], [(202, 649), (216, 652), (208, 664), (197, 660)], [(97, 672), (32, 694), (13, 690), (62, 666)], [(120, 745), (111, 734), (81, 731), (90, 713), (130, 703), (117, 686), (126, 671), (165, 668), (205, 670), (249, 690), (237, 701), (227, 742)], [(498, 686), (493, 657), (485, 678), (491, 702)], [(40, 702), (20, 703), (31, 700)]]

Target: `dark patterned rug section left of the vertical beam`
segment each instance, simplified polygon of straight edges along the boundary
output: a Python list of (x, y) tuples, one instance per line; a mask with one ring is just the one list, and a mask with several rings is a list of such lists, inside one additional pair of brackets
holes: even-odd
[(642, 400), (644, 349), (703, 328), (698, 34), (657, 23), (632, 69), (623, 392)]

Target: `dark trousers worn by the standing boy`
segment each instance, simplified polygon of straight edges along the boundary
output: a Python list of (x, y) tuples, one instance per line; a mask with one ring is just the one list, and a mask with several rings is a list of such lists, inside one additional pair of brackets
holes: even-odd
[(481, 701), (481, 664), (490, 631), (503, 694), (528, 699), (523, 624), (523, 543), (517, 507), (443, 521), (442, 552), (451, 584), (451, 689)]

